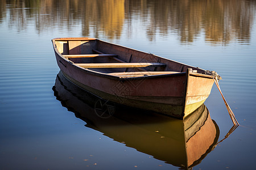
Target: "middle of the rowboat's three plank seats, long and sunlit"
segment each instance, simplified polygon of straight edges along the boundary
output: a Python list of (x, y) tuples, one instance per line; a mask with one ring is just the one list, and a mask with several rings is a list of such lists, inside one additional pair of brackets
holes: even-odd
[(75, 65), (84, 68), (118, 68), (118, 67), (163, 67), (166, 66), (164, 63), (159, 62), (138, 62), (138, 63), (75, 63)]

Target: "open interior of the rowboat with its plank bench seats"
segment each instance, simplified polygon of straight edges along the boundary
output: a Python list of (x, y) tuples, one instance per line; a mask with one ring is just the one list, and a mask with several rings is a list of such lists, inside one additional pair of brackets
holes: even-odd
[(185, 73), (203, 73), (198, 67), (91, 38), (53, 39), (57, 50), (74, 65), (102, 74), (130, 78)]

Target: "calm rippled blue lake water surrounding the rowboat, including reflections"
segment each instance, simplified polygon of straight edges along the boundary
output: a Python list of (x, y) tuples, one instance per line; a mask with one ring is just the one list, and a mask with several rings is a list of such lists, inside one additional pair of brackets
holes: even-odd
[[(126, 108), (90, 117), (93, 99), (61, 79), (56, 37), (97, 37), (215, 70), (241, 126), (222, 141), (233, 124), (215, 85), (204, 103), (211, 128), (187, 142), (174, 118)], [(0, 0), (0, 40), (0, 169), (254, 169), (255, 1)]]

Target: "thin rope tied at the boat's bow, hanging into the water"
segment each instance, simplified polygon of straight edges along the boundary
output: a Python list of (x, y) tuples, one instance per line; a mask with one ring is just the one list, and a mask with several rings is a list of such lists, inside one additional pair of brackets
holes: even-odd
[(218, 91), (220, 91), (220, 93), (221, 93), (222, 99), (224, 100), (226, 108), (228, 109), (229, 116), (230, 116), (233, 124), (236, 125), (236, 126), (239, 126), (238, 121), (236, 120), (236, 117), (234, 116), (234, 113), (233, 113), (232, 109), (229, 107), (228, 102), (226, 102), (226, 99), (225, 99), (225, 97), (223, 96), (223, 94), (221, 92), (220, 84), (218, 84), (218, 80), (221, 79), (221, 76), (218, 75), (216, 71), (209, 71), (209, 70), (205, 71), (205, 74), (213, 76), (214, 82), (215, 82), (215, 84), (216, 84), (216, 86), (218, 88)]

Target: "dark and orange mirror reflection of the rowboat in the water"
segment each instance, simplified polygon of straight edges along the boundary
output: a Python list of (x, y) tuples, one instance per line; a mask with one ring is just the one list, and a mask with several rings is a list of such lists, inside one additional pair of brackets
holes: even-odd
[(220, 131), (204, 104), (185, 120), (123, 109), (75, 86), (61, 71), (53, 90), (57, 100), (87, 127), (181, 169), (199, 164), (218, 141)]

